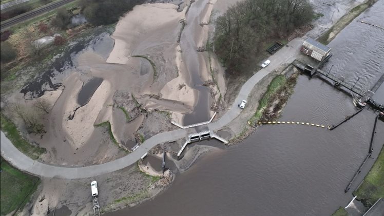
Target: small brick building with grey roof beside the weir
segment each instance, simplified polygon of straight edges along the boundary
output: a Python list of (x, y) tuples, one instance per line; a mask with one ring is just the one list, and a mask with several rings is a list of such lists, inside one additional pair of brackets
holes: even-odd
[(321, 62), (331, 53), (331, 48), (313, 40), (309, 37), (303, 42), (300, 51), (306, 55), (310, 55), (315, 58), (315, 60)]

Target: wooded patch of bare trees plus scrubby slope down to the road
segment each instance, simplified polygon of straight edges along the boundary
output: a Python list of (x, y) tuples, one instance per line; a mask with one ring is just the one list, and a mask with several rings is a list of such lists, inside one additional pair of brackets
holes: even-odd
[[(265, 58), (266, 45), (286, 41), (290, 34), (303, 28), (310, 30), (316, 18), (308, 1), (244, 1), (230, 7), (217, 18), (214, 51), (226, 69), (228, 92), (237, 92), (258, 70)], [(257, 69), (256, 69), (257, 68)], [(231, 100), (226, 95), (225, 100)]]

